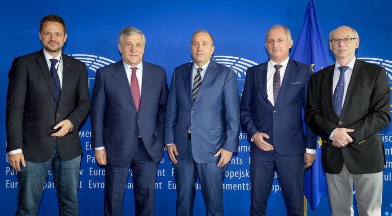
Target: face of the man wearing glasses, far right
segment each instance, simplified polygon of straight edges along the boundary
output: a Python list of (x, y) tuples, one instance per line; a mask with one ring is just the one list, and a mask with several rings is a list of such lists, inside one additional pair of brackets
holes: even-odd
[[(343, 39), (343, 38), (356, 38), (354, 32), (349, 27), (339, 27), (337, 28), (330, 39)], [(349, 63), (355, 56), (355, 49), (359, 46), (359, 38), (351, 40), (348, 43), (344, 43), (342, 40), (338, 44), (332, 44), (329, 42), (330, 49), (336, 57), (337, 63), (345, 66)]]

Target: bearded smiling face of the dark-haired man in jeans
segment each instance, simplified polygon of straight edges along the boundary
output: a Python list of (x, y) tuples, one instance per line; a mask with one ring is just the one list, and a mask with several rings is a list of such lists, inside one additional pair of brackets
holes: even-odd
[(39, 39), (42, 41), (43, 49), (52, 57), (56, 57), (61, 52), (61, 48), (66, 41), (67, 34), (61, 23), (45, 21), (39, 32)]

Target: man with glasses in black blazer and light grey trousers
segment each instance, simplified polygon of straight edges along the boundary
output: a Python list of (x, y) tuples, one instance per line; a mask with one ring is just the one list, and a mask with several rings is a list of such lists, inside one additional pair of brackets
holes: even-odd
[(322, 139), (331, 215), (381, 215), (385, 154), (379, 131), (391, 121), (385, 68), (355, 58), (358, 33), (346, 26), (330, 34), (335, 64), (312, 77), (305, 117)]

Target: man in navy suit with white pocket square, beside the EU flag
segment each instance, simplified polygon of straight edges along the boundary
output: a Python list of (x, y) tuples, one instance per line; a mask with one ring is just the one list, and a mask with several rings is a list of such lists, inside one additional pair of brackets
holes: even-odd
[(302, 110), (308, 99), (312, 70), (289, 58), (290, 31), (273, 26), (266, 34), (270, 59), (246, 71), (241, 98), (241, 124), (251, 137), (250, 215), (266, 215), (275, 167), (287, 215), (303, 215), (304, 164), (315, 160), (316, 136)]

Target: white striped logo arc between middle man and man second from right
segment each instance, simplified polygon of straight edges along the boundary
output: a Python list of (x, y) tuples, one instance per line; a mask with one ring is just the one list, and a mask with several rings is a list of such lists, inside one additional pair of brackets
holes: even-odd
[(234, 70), (238, 81), (245, 81), (246, 70), (248, 67), (258, 65), (258, 63), (235, 56), (213, 56), (212, 59), (219, 64), (223, 64)]

